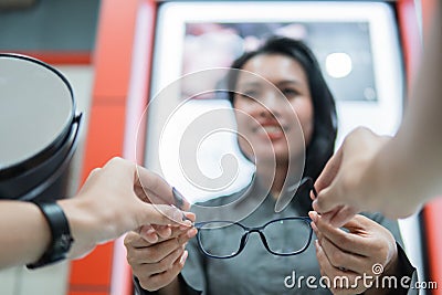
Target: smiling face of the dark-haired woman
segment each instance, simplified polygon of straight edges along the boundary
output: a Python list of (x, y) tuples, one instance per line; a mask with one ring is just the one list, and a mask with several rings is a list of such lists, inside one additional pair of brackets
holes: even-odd
[(264, 162), (304, 157), (314, 108), (302, 65), (286, 55), (259, 54), (241, 70), (253, 73), (239, 74), (233, 99), (243, 152)]

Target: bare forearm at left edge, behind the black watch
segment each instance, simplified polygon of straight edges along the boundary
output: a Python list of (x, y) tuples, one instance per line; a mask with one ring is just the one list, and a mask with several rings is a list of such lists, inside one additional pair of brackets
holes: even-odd
[(0, 268), (38, 261), (51, 242), (49, 224), (31, 202), (0, 201)]

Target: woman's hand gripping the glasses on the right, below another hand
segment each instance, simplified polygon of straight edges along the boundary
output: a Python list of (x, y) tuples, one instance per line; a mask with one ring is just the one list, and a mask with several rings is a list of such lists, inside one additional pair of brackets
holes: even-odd
[(344, 225), (348, 232), (328, 224), (316, 212), (309, 215), (317, 235), (315, 245), (320, 273), (329, 278), (332, 292), (381, 294), (383, 289), (375, 288), (375, 277), (397, 271), (398, 249), (393, 235), (360, 214)]

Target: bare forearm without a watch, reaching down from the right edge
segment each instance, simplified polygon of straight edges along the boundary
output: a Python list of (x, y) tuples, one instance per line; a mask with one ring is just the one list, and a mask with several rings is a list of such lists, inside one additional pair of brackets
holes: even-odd
[[(397, 194), (394, 197), (403, 202), (415, 203), (417, 198), (423, 202), (442, 191), (442, 6), (436, 2), (439, 7), (424, 45), (422, 66), (402, 125), (362, 178), (361, 183), (370, 183), (364, 191), (371, 191), (371, 194)], [(373, 192), (377, 188), (379, 191)]]

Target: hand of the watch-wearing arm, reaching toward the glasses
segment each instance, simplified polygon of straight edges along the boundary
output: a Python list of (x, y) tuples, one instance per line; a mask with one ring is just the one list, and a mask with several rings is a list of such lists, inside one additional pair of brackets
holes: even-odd
[[(59, 203), (75, 241), (70, 257), (87, 254), (96, 244), (143, 225), (159, 231), (168, 231), (170, 224), (191, 226), (190, 221), (183, 222), (185, 213), (170, 206), (175, 203), (172, 188), (162, 178), (122, 158), (93, 170), (76, 197)], [(182, 201), (182, 209), (189, 209), (189, 203)], [(151, 239), (156, 234), (150, 233)]]

